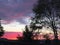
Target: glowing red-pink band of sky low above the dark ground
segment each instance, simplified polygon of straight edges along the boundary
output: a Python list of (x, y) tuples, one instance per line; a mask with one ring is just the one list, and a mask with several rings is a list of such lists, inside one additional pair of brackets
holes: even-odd
[(10, 40), (17, 40), (18, 36), (22, 37), (23, 34), (21, 32), (6, 32), (4, 34), (4, 36), (2, 36), (1, 38), (6, 38), (6, 39), (10, 39)]

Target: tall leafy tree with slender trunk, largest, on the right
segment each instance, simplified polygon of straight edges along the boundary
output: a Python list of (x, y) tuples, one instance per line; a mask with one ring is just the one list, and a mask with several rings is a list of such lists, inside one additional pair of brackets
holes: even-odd
[(57, 29), (60, 28), (58, 26), (60, 24), (60, 0), (38, 0), (37, 4), (33, 7), (33, 12), (35, 16), (32, 18), (31, 24), (48, 25), (53, 29), (55, 39), (58, 39)]

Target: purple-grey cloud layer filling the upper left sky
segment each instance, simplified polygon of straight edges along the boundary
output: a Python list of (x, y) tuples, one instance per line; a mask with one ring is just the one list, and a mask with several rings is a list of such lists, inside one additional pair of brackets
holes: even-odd
[(10, 23), (17, 20), (25, 24), (25, 18), (33, 15), (32, 7), (37, 0), (0, 0), (0, 18)]

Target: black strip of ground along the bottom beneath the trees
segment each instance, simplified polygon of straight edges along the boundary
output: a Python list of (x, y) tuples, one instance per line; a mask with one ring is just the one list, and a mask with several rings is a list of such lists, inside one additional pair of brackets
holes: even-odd
[(7, 40), (7, 39), (0, 39), (0, 45), (60, 45), (60, 40)]

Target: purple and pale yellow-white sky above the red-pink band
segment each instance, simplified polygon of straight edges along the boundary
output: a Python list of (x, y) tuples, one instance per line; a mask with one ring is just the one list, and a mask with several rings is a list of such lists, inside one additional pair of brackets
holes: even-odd
[(0, 0), (0, 18), (6, 32), (22, 32), (34, 15), (37, 0)]

